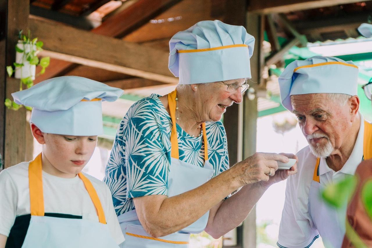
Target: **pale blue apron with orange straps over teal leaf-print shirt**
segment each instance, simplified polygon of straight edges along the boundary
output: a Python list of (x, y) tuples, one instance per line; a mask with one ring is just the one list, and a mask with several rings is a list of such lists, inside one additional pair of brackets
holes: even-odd
[[(214, 170), (208, 161), (208, 143), (205, 123), (202, 124), (204, 141), (204, 167), (199, 167), (179, 159), (177, 129), (176, 129), (176, 95), (168, 94), (172, 130), (171, 130), (171, 166), (168, 174), (168, 197), (182, 194), (205, 184), (213, 176)], [(197, 206), (195, 206), (197, 207)], [(126, 212), (118, 217), (125, 236), (123, 248), (187, 248), (190, 233), (201, 233), (208, 222), (209, 211), (197, 221), (177, 233), (160, 238), (153, 238), (140, 224), (136, 210)]]

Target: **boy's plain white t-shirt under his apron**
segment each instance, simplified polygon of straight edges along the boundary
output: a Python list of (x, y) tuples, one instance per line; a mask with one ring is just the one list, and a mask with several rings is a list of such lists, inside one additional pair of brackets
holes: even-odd
[[(0, 234), (9, 236), (17, 216), (28, 215), (30, 210), (29, 162), (22, 162), (0, 172)], [(84, 175), (92, 182), (101, 201), (109, 231), (117, 242), (124, 236), (116, 217), (109, 188), (98, 179)], [(45, 213), (81, 216), (98, 222), (94, 204), (83, 181), (61, 178), (43, 171)]]

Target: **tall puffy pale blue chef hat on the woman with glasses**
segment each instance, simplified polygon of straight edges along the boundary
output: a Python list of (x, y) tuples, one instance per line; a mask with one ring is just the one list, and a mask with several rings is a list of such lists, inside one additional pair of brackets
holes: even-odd
[(180, 84), (251, 78), (254, 37), (243, 26), (200, 21), (169, 42), (168, 67)]

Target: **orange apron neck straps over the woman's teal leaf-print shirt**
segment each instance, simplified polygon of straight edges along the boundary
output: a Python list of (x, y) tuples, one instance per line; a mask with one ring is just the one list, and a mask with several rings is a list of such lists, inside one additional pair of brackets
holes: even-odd
[[(177, 90), (168, 94), (168, 106), (169, 113), (172, 120), (172, 131), (171, 131), (171, 157), (179, 159), (178, 151), (178, 139), (177, 139), (177, 123), (176, 123), (176, 97)], [(204, 141), (204, 161), (208, 160), (208, 140), (207, 132), (205, 130), (205, 123), (202, 124), (203, 129), (203, 141)]]

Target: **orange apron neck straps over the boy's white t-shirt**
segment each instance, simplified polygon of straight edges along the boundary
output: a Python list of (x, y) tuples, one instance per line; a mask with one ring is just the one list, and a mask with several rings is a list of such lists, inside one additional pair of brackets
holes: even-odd
[[(41, 154), (30, 162), (29, 165), (29, 186), (30, 186), (30, 208), (31, 216), (44, 216), (44, 191), (43, 191), (43, 177), (42, 177), (42, 163)], [(101, 201), (98, 198), (97, 192), (94, 189), (91, 181), (86, 178), (81, 172), (78, 173), (80, 179), (83, 181), (89, 196), (92, 199), (99, 222), (106, 224), (105, 213), (103, 212)]]

